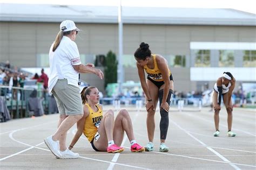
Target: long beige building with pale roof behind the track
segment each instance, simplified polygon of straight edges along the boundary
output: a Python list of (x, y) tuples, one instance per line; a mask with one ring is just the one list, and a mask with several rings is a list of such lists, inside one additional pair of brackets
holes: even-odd
[[(2, 8), (4, 7), (12, 9), (17, 6), (2, 4)], [(118, 55), (117, 14), (104, 16), (103, 13), (101, 17), (94, 16), (95, 19), (91, 20), (90, 16), (85, 16), (87, 20), (83, 21), (80, 15), (53, 17), (53, 11), (52, 16), (44, 16), (40, 10), (40, 15), (23, 13), (22, 16), (25, 7), (32, 8), (29, 5), (22, 6), (24, 10), (18, 11), (16, 15), (11, 13), (12, 10), (7, 14), (1, 13), (1, 61), (9, 60), (11, 65), (18, 67), (49, 67), (49, 48), (59, 31), (60, 22), (64, 19), (74, 20), (82, 30), (78, 33), (76, 43), (83, 63), (93, 63), (96, 55), (106, 55), (110, 50)], [(45, 10), (48, 8), (52, 6), (45, 6)], [(83, 9), (86, 8), (83, 6)], [(104, 7), (106, 13), (109, 8)], [(185, 16), (179, 20), (180, 16), (172, 17), (169, 13), (166, 13), (167, 17), (149, 19), (150, 16), (127, 16), (127, 10), (129, 9), (124, 11), (123, 24), (124, 81), (139, 81), (133, 53), (140, 42), (146, 42), (153, 54), (161, 54), (169, 62), (174, 77), (174, 89), (177, 91), (200, 91), (205, 83), (209, 83), (211, 87), (223, 70), (235, 72), (238, 82), (256, 82), (255, 15), (230, 10), (234, 12), (236, 19), (230, 13), (227, 20), (224, 20), (225, 17), (212, 18), (210, 14), (208, 17), (207, 14), (195, 16), (196, 19)], [(157, 10), (161, 9), (156, 8)], [(138, 10), (135, 11), (138, 16)], [(189, 13), (186, 15), (190, 16)], [(194, 12), (191, 12), (191, 16), (193, 15)], [(237, 69), (239, 72), (236, 72)], [(104, 82), (98, 81), (97, 76), (83, 74), (82, 79), (103, 91)]]

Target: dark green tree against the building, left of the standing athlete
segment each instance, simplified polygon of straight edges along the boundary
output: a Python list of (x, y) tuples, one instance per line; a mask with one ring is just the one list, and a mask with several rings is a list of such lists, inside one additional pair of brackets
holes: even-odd
[(105, 88), (108, 83), (117, 83), (118, 62), (116, 58), (116, 54), (114, 54), (112, 51), (109, 51), (106, 55), (106, 62), (104, 67)]

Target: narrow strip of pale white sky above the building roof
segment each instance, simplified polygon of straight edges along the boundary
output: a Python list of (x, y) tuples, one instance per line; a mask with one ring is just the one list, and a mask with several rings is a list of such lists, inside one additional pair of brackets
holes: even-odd
[[(122, 6), (231, 8), (256, 14), (255, 0), (121, 0)], [(119, 0), (0, 0), (0, 3), (118, 6)]]

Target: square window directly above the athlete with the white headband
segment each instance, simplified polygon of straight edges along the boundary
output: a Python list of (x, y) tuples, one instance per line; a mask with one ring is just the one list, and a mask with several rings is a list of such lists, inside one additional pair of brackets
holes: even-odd
[(234, 51), (219, 51), (219, 67), (234, 67)]

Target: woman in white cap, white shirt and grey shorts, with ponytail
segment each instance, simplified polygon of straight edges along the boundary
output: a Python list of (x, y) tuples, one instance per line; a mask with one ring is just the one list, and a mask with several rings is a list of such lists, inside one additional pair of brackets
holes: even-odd
[(80, 73), (93, 73), (103, 79), (103, 72), (92, 63), (83, 65), (75, 42), (80, 31), (72, 20), (64, 20), (49, 52), (50, 74), (48, 87), (58, 105), (59, 122), (57, 131), (44, 139), (45, 144), (56, 158), (78, 158), (66, 147), (66, 133), (83, 117), (80, 97)]

